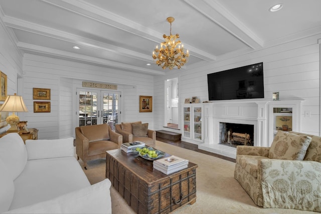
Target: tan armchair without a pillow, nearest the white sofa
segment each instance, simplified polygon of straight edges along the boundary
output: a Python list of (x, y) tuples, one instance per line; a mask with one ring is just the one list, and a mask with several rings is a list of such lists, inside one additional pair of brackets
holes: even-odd
[(105, 124), (76, 127), (76, 154), (82, 159), (84, 168), (87, 161), (106, 157), (106, 150), (120, 148), (122, 135)]

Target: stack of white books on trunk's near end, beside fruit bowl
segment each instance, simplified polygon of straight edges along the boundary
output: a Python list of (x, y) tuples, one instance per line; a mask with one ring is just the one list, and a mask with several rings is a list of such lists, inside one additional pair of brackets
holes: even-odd
[(153, 161), (154, 169), (157, 169), (165, 174), (171, 174), (185, 169), (187, 168), (188, 164), (189, 160), (174, 155)]

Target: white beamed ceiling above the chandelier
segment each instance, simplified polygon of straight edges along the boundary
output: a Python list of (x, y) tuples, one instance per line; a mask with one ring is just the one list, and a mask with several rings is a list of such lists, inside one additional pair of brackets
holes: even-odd
[[(269, 12), (277, 3), (282, 10)], [(320, 34), (320, 9), (320, 0), (0, 0), (22, 53), (150, 75), (168, 71), (151, 57), (170, 33), (167, 17), (190, 51), (183, 69), (193, 69)]]

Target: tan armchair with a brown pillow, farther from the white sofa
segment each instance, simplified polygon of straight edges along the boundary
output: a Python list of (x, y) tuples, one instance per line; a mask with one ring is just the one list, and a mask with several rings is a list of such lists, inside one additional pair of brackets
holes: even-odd
[[(144, 142), (147, 146), (155, 146), (156, 143), (156, 131), (147, 129), (147, 134), (145, 136), (135, 136), (132, 129), (132, 124), (142, 124), (141, 121), (128, 122), (121, 124), (115, 124), (115, 132), (122, 135), (122, 141), (125, 142), (134, 142), (141, 141)], [(146, 123), (145, 123), (146, 124)], [(147, 123), (148, 127), (148, 123)]]

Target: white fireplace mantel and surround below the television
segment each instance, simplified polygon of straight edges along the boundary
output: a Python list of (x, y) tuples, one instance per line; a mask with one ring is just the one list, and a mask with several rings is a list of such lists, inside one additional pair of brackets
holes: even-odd
[[(254, 146), (270, 146), (273, 140), (273, 108), (290, 107), (293, 109), (293, 131), (300, 131), (300, 106), (303, 100), (228, 100), (204, 103), (204, 143), (199, 145), (200, 149), (211, 151), (219, 145), (219, 123), (239, 123), (254, 125)], [(208, 149), (209, 148), (209, 149)], [(228, 148), (231, 150), (231, 148)], [(236, 149), (232, 148), (235, 154), (226, 155), (232, 158), (236, 156)], [(215, 152), (215, 151), (212, 151)], [(232, 152), (232, 153), (233, 153)], [(220, 152), (215, 152), (223, 154)]]

